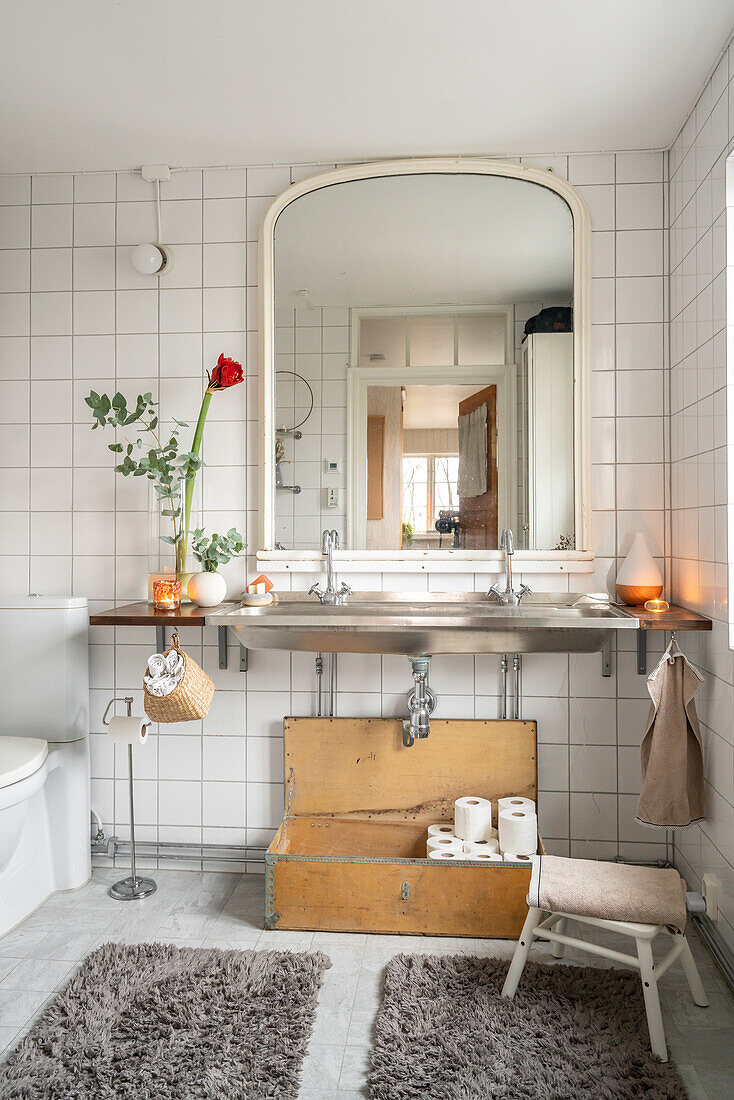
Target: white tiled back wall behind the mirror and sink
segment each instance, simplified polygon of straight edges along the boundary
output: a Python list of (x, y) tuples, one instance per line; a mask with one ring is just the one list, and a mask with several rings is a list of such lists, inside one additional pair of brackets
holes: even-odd
[[(664, 497), (662, 154), (529, 158), (568, 174), (592, 215), (592, 444), (596, 574), (572, 590), (612, 584), (642, 529), (666, 553)], [(313, 170), (317, 170), (314, 166)], [(160, 395), (164, 417), (189, 419), (202, 364), (220, 351), (247, 363), (247, 385), (218, 394), (206, 436), (205, 520), (247, 526), (256, 507), (256, 235), (273, 196), (311, 170), (177, 173), (163, 188), (165, 240), (176, 253), (161, 280), (138, 276), (130, 253), (154, 235), (152, 187), (131, 173), (0, 179), (0, 584), (87, 595), (101, 608), (144, 593), (146, 499), (111, 469), (84, 396), (117, 386)], [(250, 565), (254, 561), (250, 560)], [(245, 565), (228, 570), (232, 592)], [(355, 587), (486, 590), (490, 579), (441, 574), (346, 578)], [(302, 575), (308, 586), (313, 578)], [(533, 578), (548, 588), (569, 579)], [(141, 833), (161, 839), (270, 839), (283, 802), (281, 727), (314, 707), (313, 661), (251, 654), (247, 675), (217, 668), (213, 631), (183, 641), (215, 676), (204, 723), (166, 727), (138, 759)], [(152, 630), (91, 631), (92, 799), (119, 833), (127, 816), (124, 761), (101, 714), (139, 685)], [(496, 716), (497, 661), (437, 658), (438, 714)], [(403, 658), (343, 656), (339, 714), (402, 714)], [(556, 851), (659, 855), (660, 837), (633, 824), (637, 750), (646, 712), (632, 649), (601, 676), (599, 654), (529, 657), (524, 715), (539, 723), (541, 828)], [(490, 761), (491, 763), (491, 761)]]

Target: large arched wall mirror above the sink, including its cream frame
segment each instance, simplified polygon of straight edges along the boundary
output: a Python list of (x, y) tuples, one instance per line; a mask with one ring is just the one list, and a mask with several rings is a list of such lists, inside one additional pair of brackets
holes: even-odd
[(261, 240), (262, 547), (587, 551), (585, 211), (497, 162), (291, 188)]

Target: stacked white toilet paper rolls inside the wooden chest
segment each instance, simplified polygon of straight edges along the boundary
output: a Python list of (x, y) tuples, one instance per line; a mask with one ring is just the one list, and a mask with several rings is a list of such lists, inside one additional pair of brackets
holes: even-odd
[(475, 794), (453, 803), (453, 825), (436, 822), (428, 826), (428, 859), (526, 862), (537, 850), (535, 803), (521, 795), (500, 799), (497, 828), (492, 825), (492, 803)]

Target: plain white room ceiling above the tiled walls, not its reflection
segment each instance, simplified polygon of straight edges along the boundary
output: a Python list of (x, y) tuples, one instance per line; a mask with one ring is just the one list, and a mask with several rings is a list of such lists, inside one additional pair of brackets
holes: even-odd
[(670, 144), (732, 0), (0, 0), (0, 172)]

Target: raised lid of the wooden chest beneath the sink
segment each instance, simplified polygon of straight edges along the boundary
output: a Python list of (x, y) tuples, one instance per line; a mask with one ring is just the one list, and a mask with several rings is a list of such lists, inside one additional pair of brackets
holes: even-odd
[(285, 718), (287, 816), (450, 820), (465, 794), (537, 801), (537, 724), (431, 719), (403, 745), (401, 718)]

